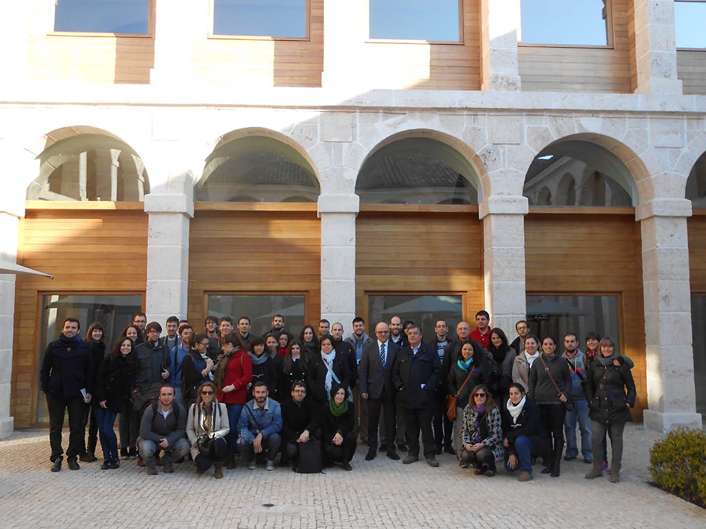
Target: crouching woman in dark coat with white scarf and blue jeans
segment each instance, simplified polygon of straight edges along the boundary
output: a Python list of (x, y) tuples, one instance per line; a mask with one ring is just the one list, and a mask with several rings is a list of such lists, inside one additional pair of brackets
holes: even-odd
[(525, 395), (522, 384), (510, 386), (510, 399), (503, 410), (505, 439), (505, 468), (520, 469), (517, 481), (532, 480), (532, 456), (544, 454), (549, 442), (542, 427), (542, 416), (537, 404)]

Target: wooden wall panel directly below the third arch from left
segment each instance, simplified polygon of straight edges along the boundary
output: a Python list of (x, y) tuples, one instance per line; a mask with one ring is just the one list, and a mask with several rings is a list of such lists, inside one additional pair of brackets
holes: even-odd
[(484, 308), (482, 250), (477, 213), (360, 213), (356, 313), (368, 320), (366, 293), (460, 293), (472, 317)]

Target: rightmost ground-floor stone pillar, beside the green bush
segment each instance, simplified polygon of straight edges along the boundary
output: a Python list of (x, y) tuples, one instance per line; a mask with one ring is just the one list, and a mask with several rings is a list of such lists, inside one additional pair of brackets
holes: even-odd
[(647, 406), (645, 425), (701, 428), (691, 347), (691, 292), (686, 219), (689, 200), (652, 200), (637, 208), (642, 231)]

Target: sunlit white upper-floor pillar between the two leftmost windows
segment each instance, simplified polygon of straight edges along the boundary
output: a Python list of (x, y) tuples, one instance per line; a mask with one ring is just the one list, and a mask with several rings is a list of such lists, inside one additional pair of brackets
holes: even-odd
[(192, 33), (197, 26), (201, 30), (208, 27), (195, 23), (195, 16), (201, 14), (196, 13), (199, 4), (207, 5), (190, 0), (156, 0), (155, 66), (150, 83), (172, 85), (191, 79)]

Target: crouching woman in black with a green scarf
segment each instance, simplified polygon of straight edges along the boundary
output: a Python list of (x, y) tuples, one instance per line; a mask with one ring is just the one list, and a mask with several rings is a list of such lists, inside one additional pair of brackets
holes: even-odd
[(342, 463), (343, 470), (353, 470), (350, 464), (356, 449), (353, 432), (355, 413), (353, 403), (347, 401), (347, 389), (333, 384), (331, 399), (323, 405), (321, 442), (329, 463)]

